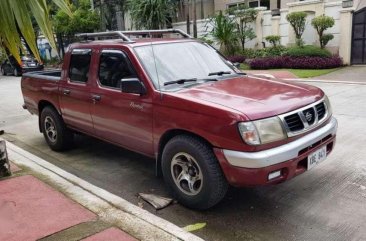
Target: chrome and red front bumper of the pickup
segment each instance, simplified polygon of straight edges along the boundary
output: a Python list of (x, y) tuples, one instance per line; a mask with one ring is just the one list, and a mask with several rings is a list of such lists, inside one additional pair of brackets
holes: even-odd
[[(215, 154), (230, 184), (256, 186), (279, 183), (307, 170), (307, 157), (322, 146), (327, 155), (333, 150), (337, 132), (337, 120), (293, 142), (259, 152), (240, 152), (215, 149)], [(271, 172), (281, 170), (281, 175), (268, 180)]]

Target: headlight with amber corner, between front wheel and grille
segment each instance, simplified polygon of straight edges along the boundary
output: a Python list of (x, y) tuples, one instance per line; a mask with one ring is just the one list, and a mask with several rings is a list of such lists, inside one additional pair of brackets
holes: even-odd
[(249, 145), (260, 145), (283, 140), (286, 135), (278, 117), (239, 123), (239, 132)]

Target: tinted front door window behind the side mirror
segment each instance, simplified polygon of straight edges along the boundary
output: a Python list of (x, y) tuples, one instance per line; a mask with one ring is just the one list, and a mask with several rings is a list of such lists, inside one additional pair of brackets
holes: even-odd
[(120, 88), (121, 79), (135, 78), (127, 56), (119, 50), (105, 50), (100, 55), (99, 82), (102, 86)]

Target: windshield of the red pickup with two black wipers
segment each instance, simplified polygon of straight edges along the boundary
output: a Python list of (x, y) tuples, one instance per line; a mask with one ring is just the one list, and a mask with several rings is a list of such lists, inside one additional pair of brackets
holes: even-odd
[[(155, 87), (162, 90), (195, 84), (192, 79), (207, 80), (235, 73), (216, 50), (200, 42), (139, 46), (135, 51)], [(170, 85), (171, 82), (177, 83)]]

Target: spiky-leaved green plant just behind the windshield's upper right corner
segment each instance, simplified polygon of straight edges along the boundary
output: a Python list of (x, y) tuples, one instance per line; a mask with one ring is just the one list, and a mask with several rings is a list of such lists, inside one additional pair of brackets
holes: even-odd
[(227, 55), (233, 55), (238, 43), (235, 20), (219, 11), (217, 15), (211, 18), (210, 23), (212, 25), (210, 34), (220, 45), (220, 51)]

